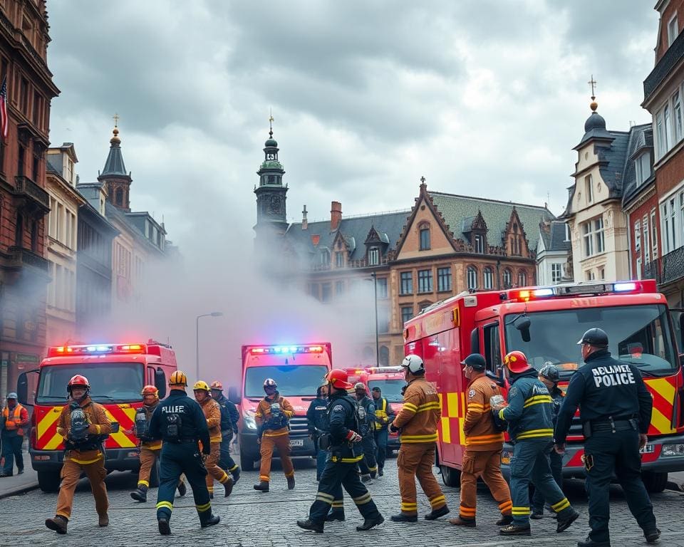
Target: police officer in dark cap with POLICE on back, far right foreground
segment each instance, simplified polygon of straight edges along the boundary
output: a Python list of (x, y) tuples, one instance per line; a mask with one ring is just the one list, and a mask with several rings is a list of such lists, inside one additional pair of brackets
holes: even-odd
[(613, 359), (608, 335), (590, 328), (578, 342), (586, 363), (571, 377), (556, 424), (556, 452), (562, 453), (572, 417), (580, 407), (584, 429), (584, 468), (589, 494), (589, 537), (579, 547), (610, 546), (608, 487), (615, 474), (629, 510), (648, 543), (655, 543), (653, 506), (641, 481), (639, 449), (646, 446), (653, 400), (638, 368)]

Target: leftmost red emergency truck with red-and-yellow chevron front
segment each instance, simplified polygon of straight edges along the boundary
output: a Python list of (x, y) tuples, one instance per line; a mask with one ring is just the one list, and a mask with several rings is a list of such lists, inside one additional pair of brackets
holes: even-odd
[[(48, 356), (37, 370), (22, 373), (17, 392), (28, 404), (29, 375), (37, 374), (31, 415), (28, 454), (38, 473), (38, 486), (46, 492), (59, 489), (64, 458), (63, 438), (57, 433), (62, 407), (67, 402), (66, 385), (76, 374), (88, 378), (90, 397), (105, 407), (118, 431), (105, 442), (105, 467), (111, 471), (140, 469), (138, 439), (133, 435), (135, 411), (142, 406), (142, 387), (155, 385), (160, 399), (166, 396), (168, 377), (177, 370), (176, 355), (169, 345), (147, 343), (63, 345), (48, 348)], [(152, 469), (150, 482), (157, 482)]]

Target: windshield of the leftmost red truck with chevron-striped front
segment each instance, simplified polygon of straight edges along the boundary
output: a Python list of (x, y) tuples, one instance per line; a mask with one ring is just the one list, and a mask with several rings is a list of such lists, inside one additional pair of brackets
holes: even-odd
[(38, 405), (66, 402), (66, 385), (73, 375), (90, 382), (90, 397), (96, 402), (141, 401), (142, 365), (140, 363), (92, 363), (46, 366), (36, 391)]

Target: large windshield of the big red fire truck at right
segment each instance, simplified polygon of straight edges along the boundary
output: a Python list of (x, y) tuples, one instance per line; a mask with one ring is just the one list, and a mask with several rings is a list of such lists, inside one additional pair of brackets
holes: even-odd
[(608, 333), (608, 349), (613, 358), (636, 365), (643, 375), (667, 376), (679, 366), (665, 306), (530, 312), (529, 328), (525, 326), (527, 322), (516, 321), (517, 317), (507, 316), (504, 321), (506, 351), (524, 352), (537, 370), (552, 363), (562, 375), (584, 365), (577, 340), (593, 327)]

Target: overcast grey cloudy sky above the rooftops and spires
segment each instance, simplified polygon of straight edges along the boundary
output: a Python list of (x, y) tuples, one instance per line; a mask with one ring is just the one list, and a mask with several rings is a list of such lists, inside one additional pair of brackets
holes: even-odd
[[(187, 249), (252, 238), (272, 108), (288, 217), (429, 189), (565, 206), (591, 74), (608, 129), (650, 117), (654, 0), (48, 1), (51, 142), (96, 179), (112, 116), (134, 210)], [(547, 197), (548, 196), (548, 197)]]

